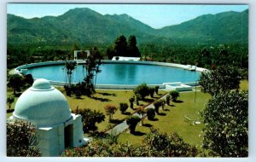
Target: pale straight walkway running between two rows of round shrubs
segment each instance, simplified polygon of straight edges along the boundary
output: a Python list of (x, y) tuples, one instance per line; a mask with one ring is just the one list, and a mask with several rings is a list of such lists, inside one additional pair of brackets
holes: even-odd
[[(167, 93), (168, 94), (168, 93)], [(166, 95), (167, 95), (166, 94)], [(160, 97), (160, 99), (166, 99), (166, 95), (163, 95), (162, 97)], [(145, 107), (145, 109), (148, 108), (154, 108), (153, 103), (151, 103), (150, 105), (148, 105), (147, 107)], [(137, 115), (138, 117), (142, 118), (138, 113), (134, 113), (132, 115)], [(108, 133), (109, 135), (112, 136), (118, 136), (120, 133), (122, 133), (123, 131), (127, 130), (129, 128), (128, 124), (126, 124), (126, 120), (123, 121), (121, 124), (116, 125), (115, 127), (113, 127), (113, 129), (108, 130), (106, 133)]]

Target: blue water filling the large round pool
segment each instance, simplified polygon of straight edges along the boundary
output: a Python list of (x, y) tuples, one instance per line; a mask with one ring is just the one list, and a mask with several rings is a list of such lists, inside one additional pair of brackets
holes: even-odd
[[(33, 67), (28, 69), (33, 78), (66, 81), (64, 65)], [(190, 72), (181, 68), (139, 64), (102, 64), (102, 72), (97, 74), (96, 84), (163, 84), (170, 82), (195, 82), (201, 72)], [(83, 81), (85, 69), (79, 65), (73, 73), (73, 82)]]

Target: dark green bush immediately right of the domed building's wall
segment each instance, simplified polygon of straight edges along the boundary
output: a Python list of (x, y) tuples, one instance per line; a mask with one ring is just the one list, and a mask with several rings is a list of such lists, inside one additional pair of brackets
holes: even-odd
[(105, 120), (105, 115), (100, 111), (92, 111), (90, 108), (79, 109), (73, 113), (80, 114), (82, 116), (83, 130), (89, 132), (90, 130), (96, 130), (96, 123), (100, 124)]

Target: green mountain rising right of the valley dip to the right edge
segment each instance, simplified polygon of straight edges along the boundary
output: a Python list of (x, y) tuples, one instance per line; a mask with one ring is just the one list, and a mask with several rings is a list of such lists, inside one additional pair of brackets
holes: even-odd
[(166, 26), (158, 31), (161, 36), (180, 42), (241, 43), (248, 40), (248, 10), (204, 14), (176, 26)]

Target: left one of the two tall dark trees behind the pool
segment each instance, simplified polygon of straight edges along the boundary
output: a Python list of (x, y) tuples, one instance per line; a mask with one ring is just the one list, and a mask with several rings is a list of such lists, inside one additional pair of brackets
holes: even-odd
[(114, 41), (114, 51), (117, 56), (126, 56), (127, 55), (127, 42), (124, 35), (119, 36)]

